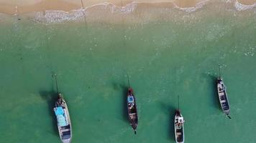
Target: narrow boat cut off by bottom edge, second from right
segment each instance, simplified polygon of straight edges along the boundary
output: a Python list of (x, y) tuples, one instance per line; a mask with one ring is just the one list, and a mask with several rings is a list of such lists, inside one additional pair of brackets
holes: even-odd
[(180, 113), (180, 109), (176, 109), (174, 117), (174, 134), (176, 143), (183, 143), (185, 140), (184, 122), (185, 120), (183, 119), (183, 116)]

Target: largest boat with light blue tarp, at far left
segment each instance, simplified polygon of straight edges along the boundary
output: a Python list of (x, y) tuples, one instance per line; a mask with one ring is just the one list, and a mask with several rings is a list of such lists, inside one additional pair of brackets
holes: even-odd
[[(55, 82), (58, 92), (58, 83), (55, 75)], [(65, 102), (65, 99), (58, 92), (58, 99), (55, 102), (55, 107), (53, 108), (56, 119), (58, 122), (58, 132), (60, 134), (60, 139), (63, 143), (70, 143), (72, 139), (72, 128), (70, 122), (70, 116), (68, 112), (68, 105)]]

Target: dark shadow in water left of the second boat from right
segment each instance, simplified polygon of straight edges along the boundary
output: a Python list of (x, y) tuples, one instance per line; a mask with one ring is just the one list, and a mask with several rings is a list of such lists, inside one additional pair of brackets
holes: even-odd
[(170, 104), (164, 104), (160, 103), (161, 110), (165, 112), (165, 114), (168, 115), (168, 131), (167, 131), (167, 137), (168, 139), (171, 139), (175, 141), (175, 134), (174, 134), (174, 117), (175, 117), (175, 107), (173, 107)]

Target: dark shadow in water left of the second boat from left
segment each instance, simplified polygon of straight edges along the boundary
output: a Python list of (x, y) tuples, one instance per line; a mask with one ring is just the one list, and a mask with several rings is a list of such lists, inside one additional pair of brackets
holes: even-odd
[(124, 122), (129, 124), (129, 119), (128, 119), (128, 111), (127, 111), (127, 92), (128, 92), (128, 87), (125, 86), (124, 84), (113, 84), (113, 87), (115, 90), (122, 91), (121, 96), (122, 96), (122, 119)]

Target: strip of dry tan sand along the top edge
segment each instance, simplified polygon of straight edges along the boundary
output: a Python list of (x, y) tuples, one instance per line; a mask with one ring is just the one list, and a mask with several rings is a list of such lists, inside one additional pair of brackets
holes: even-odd
[[(145, 4), (166, 4), (173, 3), (179, 7), (193, 7), (203, 0), (0, 0), (0, 13), (2, 14), (24, 14), (32, 11), (71, 11), (73, 9), (86, 9), (96, 4), (111, 3), (116, 6), (125, 6), (132, 2)], [(211, 0), (210, 0), (211, 1)], [(256, 0), (238, 0), (240, 4), (252, 5)]]

